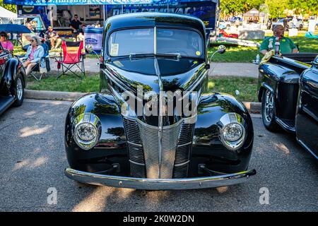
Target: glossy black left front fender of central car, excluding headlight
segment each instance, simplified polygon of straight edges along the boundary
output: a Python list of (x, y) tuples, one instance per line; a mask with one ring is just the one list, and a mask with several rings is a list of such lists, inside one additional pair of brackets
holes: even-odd
[[(102, 124), (99, 141), (90, 150), (83, 150), (73, 139), (73, 121), (84, 113), (95, 114)], [(112, 95), (91, 93), (73, 102), (66, 116), (64, 132), (66, 156), (73, 169), (105, 171), (112, 167), (112, 162), (121, 162), (122, 156), (127, 155), (122, 114)]]

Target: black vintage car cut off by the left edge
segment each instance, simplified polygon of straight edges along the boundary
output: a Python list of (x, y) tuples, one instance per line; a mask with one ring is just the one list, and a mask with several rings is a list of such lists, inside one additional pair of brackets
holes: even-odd
[(22, 105), (25, 84), (21, 62), (0, 44), (0, 114), (11, 105)]

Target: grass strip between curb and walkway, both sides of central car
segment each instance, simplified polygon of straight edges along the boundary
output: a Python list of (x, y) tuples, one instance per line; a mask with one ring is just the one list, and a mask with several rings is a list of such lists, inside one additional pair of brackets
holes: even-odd
[[(100, 77), (98, 74), (90, 74), (82, 80), (76, 76), (56, 76), (42, 78), (35, 81), (29, 78), (27, 88), (30, 90), (55, 90), (69, 92), (98, 92), (100, 90)], [(228, 93), (241, 101), (257, 101), (257, 78), (240, 78), (230, 76), (215, 76), (208, 81), (209, 92)], [(235, 95), (235, 90), (240, 95)]]

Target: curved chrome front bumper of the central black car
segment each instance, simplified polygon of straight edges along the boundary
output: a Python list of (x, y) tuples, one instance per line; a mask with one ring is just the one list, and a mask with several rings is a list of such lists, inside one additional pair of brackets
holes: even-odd
[(147, 179), (135, 177), (117, 177), (104, 174), (65, 169), (64, 174), (70, 179), (85, 184), (96, 184), (141, 190), (180, 190), (180, 189), (206, 189), (218, 186), (229, 186), (246, 182), (249, 176), (256, 174), (255, 169), (224, 174), (213, 177), (194, 177), (184, 179)]

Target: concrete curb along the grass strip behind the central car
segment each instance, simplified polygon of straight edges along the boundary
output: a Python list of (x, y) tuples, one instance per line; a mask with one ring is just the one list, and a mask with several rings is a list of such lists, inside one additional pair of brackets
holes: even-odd
[[(76, 93), (76, 92), (60, 92), (60, 91), (45, 91), (45, 90), (24, 90), (24, 97), (26, 99), (35, 100), (64, 100), (74, 101), (87, 93)], [(250, 113), (260, 113), (261, 103), (260, 102), (243, 102), (245, 107)]]

